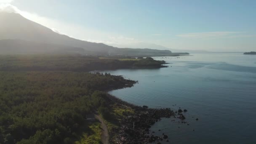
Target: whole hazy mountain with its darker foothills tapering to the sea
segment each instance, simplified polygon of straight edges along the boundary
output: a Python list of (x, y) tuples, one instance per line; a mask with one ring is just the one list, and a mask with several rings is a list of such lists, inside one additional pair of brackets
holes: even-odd
[(30, 21), (18, 13), (0, 12), (0, 54), (80, 53), (111, 56), (168, 56), (170, 50), (116, 48), (77, 40)]

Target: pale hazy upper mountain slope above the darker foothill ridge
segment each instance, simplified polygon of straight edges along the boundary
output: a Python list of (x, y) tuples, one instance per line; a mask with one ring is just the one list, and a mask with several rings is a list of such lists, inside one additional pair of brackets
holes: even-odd
[[(98, 52), (106, 52), (112, 46), (103, 43), (91, 43), (77, 40), (67, 35), (60, 35), (51, 29), (25, 19), (18, 13), (0, 13), (0, 39), (19, 39), (39, 43), (53, 43), (85, 48)], [(104, 51), (102, 51), (104, 50)]]

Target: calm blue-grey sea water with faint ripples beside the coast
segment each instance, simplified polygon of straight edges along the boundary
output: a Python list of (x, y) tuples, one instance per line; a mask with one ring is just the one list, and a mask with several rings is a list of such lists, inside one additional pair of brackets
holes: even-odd
[(170, 118), (151, 128), (174, 144), (256, 144), (256, 56), (192, 55), (154, 58), (171, 63), (168, 68), (107, 71), (139, 80), (110, 93), (140, 106), (187, 109), (190, 125)]

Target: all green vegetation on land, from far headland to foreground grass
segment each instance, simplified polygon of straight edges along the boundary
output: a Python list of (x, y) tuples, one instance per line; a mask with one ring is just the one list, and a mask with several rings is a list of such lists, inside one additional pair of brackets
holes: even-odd
[(114, 131), (134, 111), (111, 102), (106, 91), (136, 82), (88, 71), (164, 64), (152, 58), (119, 59), (0, 56), (0, 144), (100, 143), (99, 123), (86, 121), (85, 115), (99, 112)]

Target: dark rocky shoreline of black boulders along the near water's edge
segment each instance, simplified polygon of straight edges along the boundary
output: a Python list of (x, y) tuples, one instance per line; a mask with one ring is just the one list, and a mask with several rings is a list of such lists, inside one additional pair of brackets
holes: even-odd
[[(120, 120), (119, 127), (114, 128), (110, 131), (110, 136), (114, 139), (110, 139), (111, 143), (116, 144), (147, 144), (160, 141), (169, 141), (167, 135), (155, 136), (154, 131), (150, 131), (152, 125), (160, 121), (162, 117), (170, 118), (175, 117), (184, 120), (185, 117), (182, 115), (182, 110), (174, 112), (170, 108), (148, 108), (147, 106), (136, 106), (126, 101), (116, 98), (110, 94), (107, 95), (107, 99), (110, 102), (118, 104), (123, 108), (131, 107), (134, 109), (134, 113), (125, 113), (125, 118)], [(187, 110), (184, 110), (187, 111)], [(182, 122), (187, 123), (187, 122)]]

